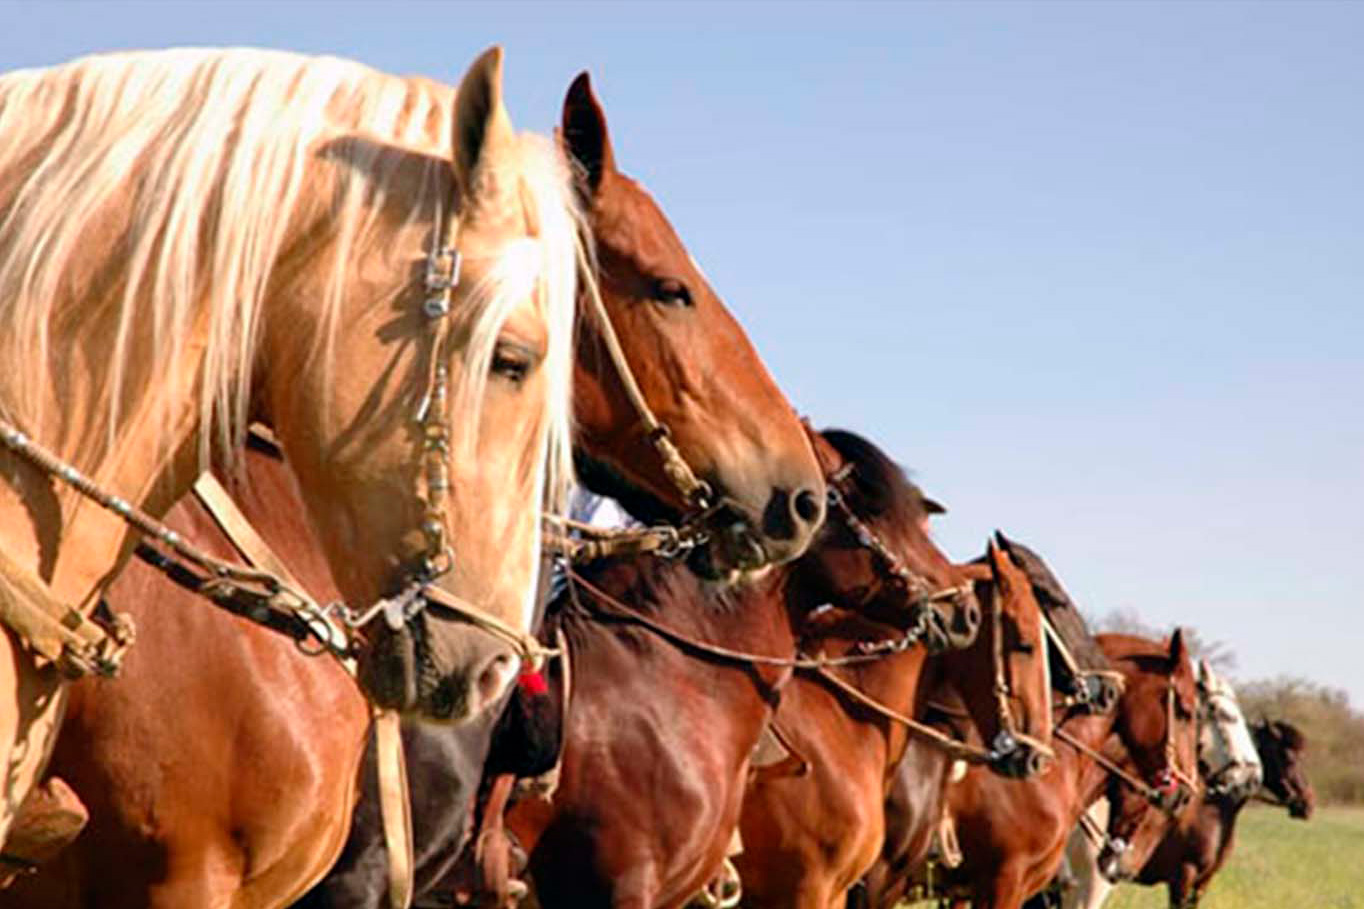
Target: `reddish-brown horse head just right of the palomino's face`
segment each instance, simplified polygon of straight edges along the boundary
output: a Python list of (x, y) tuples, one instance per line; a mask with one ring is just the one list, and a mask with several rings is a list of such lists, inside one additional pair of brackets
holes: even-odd
[[(790, 561), (824, 519), (820, 474), (790, 403), (653, 198), (615, 165), (606, 115), (584, 72), (563, 102), (562, 138), (596, 240), (603, 310), (580, 319), (574, 375), (578, 468), (595, 491), (647, 521), (708, 506), (712, 577)], [(592, 311), (593, 307), (585, 307)], [(603, 343), (606, 318), (623, 355)], [(657, 423), (644, 424), (625, 366)], [(702, 480), (687, 501), (660, 457), (666, 431)]]

